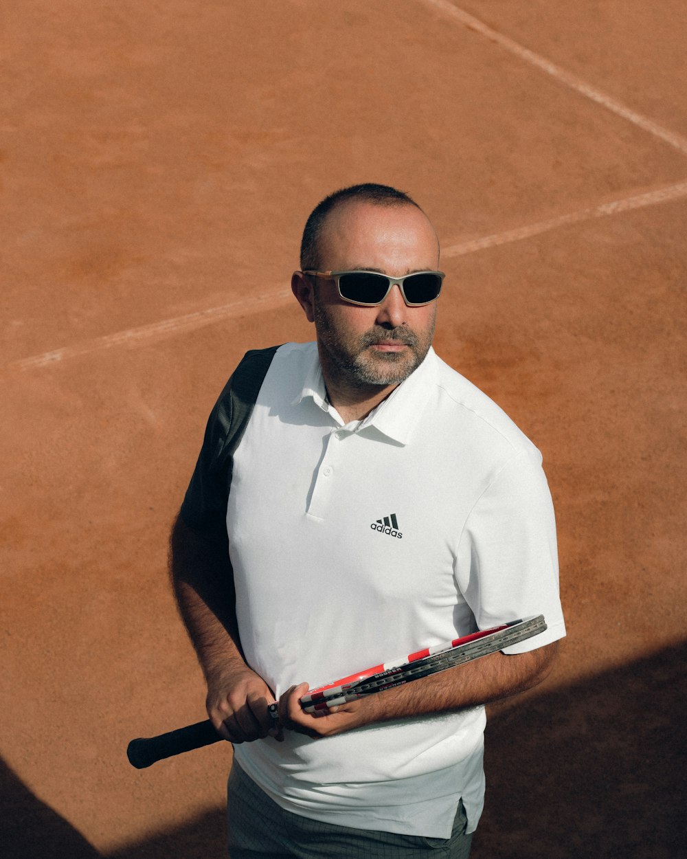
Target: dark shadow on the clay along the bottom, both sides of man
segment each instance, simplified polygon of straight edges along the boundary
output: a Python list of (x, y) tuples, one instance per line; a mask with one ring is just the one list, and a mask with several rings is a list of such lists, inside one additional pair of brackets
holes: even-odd
[[(686, 666), (687, 643), (495, 710), (471, 859), (684, 856)], [(0, 772), (3, 856), (101, 856), (9, 767)], [(224, 844), (213, 810), (106, 859), (221, 859)]]

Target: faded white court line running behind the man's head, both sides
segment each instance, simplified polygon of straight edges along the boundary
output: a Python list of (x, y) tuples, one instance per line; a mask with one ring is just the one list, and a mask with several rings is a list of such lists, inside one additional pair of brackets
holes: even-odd
[[(669, 203), (672, 200), (687, 197), (687, 180), (675, 185), (664, 186), (654, 191), (643, 194), (633, 194), (630, 197), (617, 198), (597, 206), (587, 207), (568, 214), (548, 218), (526, 224), (523, 227), (508, 229), (502, 233), (493, 233), (478, 239), (459, 242), (442, 248), (442, 257), (458, 257), (466, 253), (476, 253), (489, 247), (509, 244), (521, 241), (533, 235), (550, 232), (552, 229), (567, 226), (568, 224), (593, 221), (600, 217), (621, 214), (625, 211), (642, 209), (650, 205)], [(176, 336), (182, 332), (195, 331), (198, 328), (212, 325), (215, 322), (235, 319), (237, 316), (259, 313), (261, 310), (273, 309), (285, 306), (293, 301), (290, 289), (273, 289), (260, 295), (251, 295), (236, 302), (222, 304), (215, 308), (198, 310), (192, 314), (176, 316), (172, 319), (161, 320), (161, 322), (149, 323), (149, 325), (128, 328), (125, 331), (106, 334), (103, 337), (84, 340), (71, 346), (64, 346), (40, 355), (33, 355), (9, 362), (5, 366), (5, 372), (12, 370), (26, 371), (49, 367), (70, 358), (89, 355), (91, 353), (112, 349), (115, 346), (134, 346), (153, 343), (166, 337)]]

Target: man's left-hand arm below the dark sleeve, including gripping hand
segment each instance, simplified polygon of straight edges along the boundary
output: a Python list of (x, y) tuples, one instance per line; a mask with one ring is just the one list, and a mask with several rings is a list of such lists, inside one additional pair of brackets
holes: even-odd
[(267, 705), (275, 698), (264, 679), (246, 665), (241, 651), (226, 536), (206, 536), (178, 516), (170, 539), (169, 570), (179, 613), (208, 686), (205, 706), (210, 721), (233, 743), (267, 736), (274, 730)]

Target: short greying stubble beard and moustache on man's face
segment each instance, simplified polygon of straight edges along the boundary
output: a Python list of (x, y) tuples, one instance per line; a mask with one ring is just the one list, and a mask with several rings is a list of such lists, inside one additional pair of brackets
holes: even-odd
[[(313, 304), (315, 329), (320, 350), (324, 350), (328, 370), (348, 387), (360, 389), (398, 385), (424, 361), (432, 344), (435, 322), (422, 335), (405, 326), (375, 326), (360, 337), (346, 337), (331, 325), (317, 299)], [(403, 343), (409, 347), (400, 352), (370, 350), (379, 343)]]

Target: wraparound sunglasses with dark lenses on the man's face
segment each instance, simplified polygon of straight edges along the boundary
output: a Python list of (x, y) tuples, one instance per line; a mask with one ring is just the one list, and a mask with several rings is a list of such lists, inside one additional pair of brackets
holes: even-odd
[(344, 302), (373, 308), (384, 301), (392, 286), (398, 283), (404, 302), (409, 308), (419, 308), (439, 298), (443, 271), (416, 271), (405, 277), (389, 277), (378, 271), (303, 271), (310, 277), (324, 277), (337, 284)]

